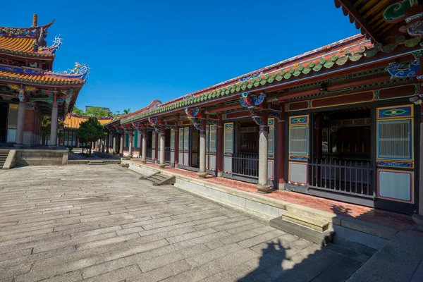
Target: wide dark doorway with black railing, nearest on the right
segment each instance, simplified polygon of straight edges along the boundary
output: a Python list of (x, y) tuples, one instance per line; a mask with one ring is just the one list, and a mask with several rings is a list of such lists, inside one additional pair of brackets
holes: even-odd
[(314, 114), (309, 187), (372, 199), (371, 108)]

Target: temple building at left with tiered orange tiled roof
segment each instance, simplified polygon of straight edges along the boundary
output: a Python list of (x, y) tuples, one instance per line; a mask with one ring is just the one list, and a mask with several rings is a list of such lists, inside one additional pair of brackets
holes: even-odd
[(57, 144), (57, 120), (70, 113), (89, 74), (87, 65), (54, 72), (61, 37), (47, 44), (49, 27), (37, 15), (25, 28), (0, 27), (0, 147), (38, 147), (43, 116), (51, 116), (49, 146)]

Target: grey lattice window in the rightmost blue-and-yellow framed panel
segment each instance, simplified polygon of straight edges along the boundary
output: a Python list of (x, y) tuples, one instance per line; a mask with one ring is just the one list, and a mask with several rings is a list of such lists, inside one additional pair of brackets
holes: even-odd
[(379, 158), (412, 159), (411, 120), (379, 121)]

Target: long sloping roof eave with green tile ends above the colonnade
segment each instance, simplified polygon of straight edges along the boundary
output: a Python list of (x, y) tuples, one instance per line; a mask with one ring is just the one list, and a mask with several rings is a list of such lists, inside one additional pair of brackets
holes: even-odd
[[(288, 65), (276, 71), (261, 73), (260, 75), (250, 75), (249, 79), (238, 80), (225, 87), (217, 90), (205, 92), (197, 95), (184, 97), (172, 104), (165, 104), (153, 111), (134, 116), (125, 122), (137, 121), (149, 116), (162, 115), (174, 111), (182, 111), (186, 107), (192, 107), (197, 104), (212, 102), (213, 100), (223, 99), (226, 97), (235, 97), (243, 92), (260, 91), (266, 87), (275, 87), (277, 85), (287, 84), (289, 82), (302, 80), (316, 75), (326, 75), (328, 73), (336, 73), (351, 66), (360, 66), (362, 63), (372, 63), (373, 61), (388, 60), (393, 56), (407, 56), (414, 51), (422, 50), (420, 47), (421, 39), (418, 37), (405, 39), (398, 37), (393, 44), (386, 46), (382, 44), (372, 45), (368, 41), (357, 44), (348, 49), (339, 49), (337, 52), (327, 54), (326, 56), (318, 56), (313, 59), (304, 61), (302, 64)], [(402, 54), (398, 55), (396, 51), (401, 48)], [(404, 51), (406, 50), (406, 51)], [(410, 56), (409, 55), (409, 56)], [(175, 101), (175, 100), (174, 100)]]

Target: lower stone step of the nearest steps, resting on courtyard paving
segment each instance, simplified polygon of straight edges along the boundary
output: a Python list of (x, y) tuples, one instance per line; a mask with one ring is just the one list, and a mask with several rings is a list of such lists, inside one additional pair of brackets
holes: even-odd
[(331, 243), (333, 236), (335, 235), (335, 232), (333, 231), (326, 230), (324, 232), (320, 232), (312, 228), (302, 226), (298, 223), (287, 221), (283, 219), (282, 216), (276, 217), (276, 219), (271, 219), (270, 226), (316, 243), (317, 245), (324, 246)]

